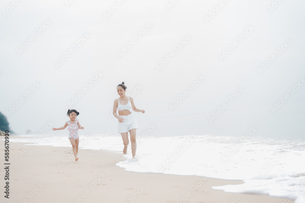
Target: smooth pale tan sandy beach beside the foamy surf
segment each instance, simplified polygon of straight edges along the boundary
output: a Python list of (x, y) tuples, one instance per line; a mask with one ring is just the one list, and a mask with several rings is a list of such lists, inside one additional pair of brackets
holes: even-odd
[[(115, 165), (123, 159), (117, 152), (79, 149), (76, 162), (70, 147), (28, 145), (28, 149), (26, 143), (9, 144), (9, 162), (5, 162), (4, 141), (0, 141), (1, 202), (284, 202), (283, 198), (226, 193), (211, 188), (241, 184), (239, 180), (127, 172)], [(4, 198), (3, 166), (8, 166), (4, 163), (10, 163), (9, 199)]]

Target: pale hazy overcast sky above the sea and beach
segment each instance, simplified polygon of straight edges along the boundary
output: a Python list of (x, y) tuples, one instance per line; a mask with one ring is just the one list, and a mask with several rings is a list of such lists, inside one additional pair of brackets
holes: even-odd
[(138, 133), (151, 124), (151, 135), (304, 135), (304, 1), (170, 2), (3, 0), (0, 111), (10, 128), (58, 128), (74, 108), (83, 134), (117, 135), (113, 100), (125, 81), (146, 111), (133, 112)]

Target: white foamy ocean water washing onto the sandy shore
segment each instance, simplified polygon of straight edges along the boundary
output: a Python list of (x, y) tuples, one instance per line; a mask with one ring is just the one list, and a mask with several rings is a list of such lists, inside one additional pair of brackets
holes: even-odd
[[(250, 131), (251, 132), (251, 131)], [(11, 142), (27, 145), (70, 147), (68, 135), (20, 135)], [(26, 147), (26, 146), (25, 146)], [(120, 135), (81, 135), (80, 149), (104, 149), (122, 153)], [(305, 140), (255, 137), (185, 135), (153, 137), (137, 135), (137, 159), (127, 155), (117, 163), (126, 171), (195, 175), (227, 180), (243, 180), (244, 184), (213, 187), (236, 193), (268, 194), (305, 202)], [(30, 150), (30, 148), (28, 149)]]

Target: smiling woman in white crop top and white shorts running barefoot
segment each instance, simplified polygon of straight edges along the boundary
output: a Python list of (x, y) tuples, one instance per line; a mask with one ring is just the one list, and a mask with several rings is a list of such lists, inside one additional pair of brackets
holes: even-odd
[[(124, 82), (117, 86), (117, 93), (120, 95), (120, 97), (114, 100), (113, 115), (118, 119), (118, 133), (121, 134), (124, 144), (123, 153), (127, 153), (129, 131), (131, 153), (132, 158), (134, 158), (137, 149), (136, 129), (138, 128), (138, 124), (133, 114), (131, 114), (131, 109), (135, 112), (142, 112), (143, 114), (145, 113), (145, 110), (140, 110), (135, 107), (133, 98), (125, 95), (126, 89), (127, 87), (124, 85)], [(117, 115), (117, 110), (119, 115)]]

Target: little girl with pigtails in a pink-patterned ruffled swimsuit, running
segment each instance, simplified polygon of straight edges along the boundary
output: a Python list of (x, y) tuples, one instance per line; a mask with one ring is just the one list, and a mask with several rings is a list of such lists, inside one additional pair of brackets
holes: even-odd
[(77, 158), (77, 152), (78, 152), (78, 143), (79, 143), (79, 135), (78, 135), (78, 128), (84, 130), (84, 127), (81, 127), (81, 124), (79, 123), (78, 119), (76, 117), (79, 115), (79, 112), (75, 109), (69, 109), (67, 116), (69, 116), (70, 120), (65, 123), (65, 125), (61, 128), (52, 128), (53, 131), (55, 130), (63, 130), (67, 126), (69, 132), (69, 140), (72, 145), (72, 150), (75, 156), (75, 161), (78, 160)]

